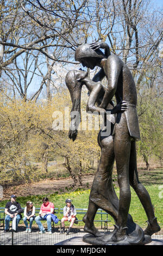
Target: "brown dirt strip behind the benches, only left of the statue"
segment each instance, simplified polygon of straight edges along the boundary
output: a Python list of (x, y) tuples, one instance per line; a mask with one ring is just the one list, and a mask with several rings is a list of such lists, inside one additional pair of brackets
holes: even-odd
[[(83, 187), (91, 187), (94, 174), (83, 176)], [(77, 184), (76, 187), (73, 186), (73, 180), (71, 178), (61, 179), (61, 180), (43, 180), (40, 182), (35, 182), (32, 184), (24, 184), (21, 186), (9, 187), (3, 190), (3, 200), (8, 199), (11, 194), (16, 194), (17, 197), (31, 196), (38, 194), (52, 194), (55, 191), (64, 192), (67, 191), (65, 188), (72, 187), (76, 189), (81, 187)]]

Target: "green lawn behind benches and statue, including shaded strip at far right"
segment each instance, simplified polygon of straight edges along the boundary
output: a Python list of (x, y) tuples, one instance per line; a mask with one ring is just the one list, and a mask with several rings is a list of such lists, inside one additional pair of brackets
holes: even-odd
[[(114, 180), (116, 181), (117, 175), (114, 173)], [(161, 227), (163, 227), (163, 206), (162, 206), (162, 197), (163, 197), (163, 187), (162, 187), (162, 168), (155, 168), (153, 170), (139, 170), (139, 179), (142, 184), (146, 187), (149, 195), (151, 196), (152, 204), (155, 210), (155, 216), (158, 217), (158, 222)], [(115, 182), (115, 191), (117, 196), (119, 196), (119, 188), (117, 183)], [(17, 201), (21, 204), (22, 207), (26, 206), (27, 201), (32, 201), (36, 208), (40, 208), (42, 204), (42, 198), (47, 196), (50, 202), (54, 203), (55, 208), (64, 208), (66, 198), (71, 198), (73, 200), (73, 204), (76, 208), (85, 208), (87, 209), (89, 202), (89, 194), (90, 190), (77, 189), (76, 191), (68, 191), (58, 193), (55, 192), (53, 194), (41, 194), (38, 196), (27, 196), (27, 197), (18, 197)], [(5, 204), (8, 200), (4, 200), (0, 202), (0, 207), (5, 207)], [(139, 198), (134, 192), (133, 188), (131, 188), (131, 204), (129, 213), (133, 217), (133, 220), (141, 225), (142, 228), (147, 226), (147, 216), (143, 207), (140, 203)], [(61, 218), (61, 214), (57, 214), (58, 218)], [(82, 220), (82, 215), (78, 215), (79, 220)], [(96, 220), (99, 220), (101, 216), (96, 215)], [(111, 220), (109, 226), (114, 224), (114, 220), (111, 216), (108, 215), (108, 219)], [(80, 226), (84, 225), (83, 222), (79, 222)], [(79, 225), (79, 224), (78, 224)], [(96, 226), (100, 224), (96, 222)]]

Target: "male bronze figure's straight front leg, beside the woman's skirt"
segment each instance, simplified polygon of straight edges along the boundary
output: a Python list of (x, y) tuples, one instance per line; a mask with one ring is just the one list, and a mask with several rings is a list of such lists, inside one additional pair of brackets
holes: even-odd
[(126, 236), (127, 217), (131, 200), (129, 184), (129, 158), (131, 137), (129, 135), (126, 116), (119, 114), (115, 127), (114, 149), (117, 167), (118, 185), (120, 186), (120, 203), (116, 239), (121, 240)]

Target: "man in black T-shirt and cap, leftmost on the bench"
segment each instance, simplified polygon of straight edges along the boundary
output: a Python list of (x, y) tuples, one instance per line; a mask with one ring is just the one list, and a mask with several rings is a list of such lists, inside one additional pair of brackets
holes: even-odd
[(14, 220), (14, 217), (16, 217), (16, 230), (18, 223), (20, 222), (22, 216), (23, 209), (21, 208), (20, 203), (16, 202), (16, 196), (14, 194), (11, 195), (11, 200), (5, 205), (4, 212), (6, 214), (5, 216), (5, 228), (4, 232), (9, 231), (10, 227), (10, 221)]

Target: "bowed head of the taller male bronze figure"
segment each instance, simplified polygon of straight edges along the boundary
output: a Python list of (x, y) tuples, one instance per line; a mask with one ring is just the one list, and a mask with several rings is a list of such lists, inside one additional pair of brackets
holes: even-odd
[(106, 57), (101, 50), (93, 51), (88, 44), (80, 45), (76, 49), (75, 60), (87, 68), (94, 69), (103, 58)]

